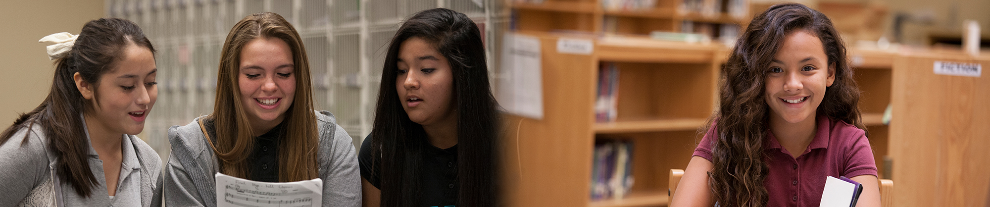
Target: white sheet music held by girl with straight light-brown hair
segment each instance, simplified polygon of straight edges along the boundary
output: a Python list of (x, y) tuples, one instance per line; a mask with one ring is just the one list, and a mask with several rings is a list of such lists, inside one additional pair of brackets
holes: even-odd
[(217, 207), (321, 206), (323, 180), (259, 182), (217, 172)]

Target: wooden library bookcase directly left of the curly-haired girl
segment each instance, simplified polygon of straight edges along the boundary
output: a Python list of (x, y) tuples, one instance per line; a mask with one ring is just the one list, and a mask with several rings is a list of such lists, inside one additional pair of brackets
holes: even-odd
[[(642, 37), (519, 32), (541, 40), (544, 119), (507, 115), (506, 196), (510, 206), (666, 206), (667, 174), (684, 168), (716, 102), (718, 45)], [(558, 39), (594, 42), (591, 54), (556, 52)], [(620, 69), (614, 122), (596, 123), (599, 65)], [(595, 142), (633, 145), (635, 184), (623, 198), (589, 195)]]

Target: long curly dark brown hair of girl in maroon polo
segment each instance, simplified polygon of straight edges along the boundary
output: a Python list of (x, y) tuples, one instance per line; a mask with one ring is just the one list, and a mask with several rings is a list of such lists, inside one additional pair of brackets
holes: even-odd
[[(706, 126), (716, 127), (709, 185), (721, 206), (765, 206), (769, 168), (763, 145), (769, 121), (764, 101), (765, 78), (773, 56), (784, 38), (795, 31), (817, 36), (825, 48), (836, 80), (826, 89), (818, 114), (838, 119), (866, 130), (859, 118), (859, 88), (845, 56), (845, 46), (824, 14), (801, 4), (779, 4), (756, 16), (722, 71), (719, 82), (719, 111)], [(715, 124), (713, 125), (712, 122)], [(704, 129), (702, 132), (708, 132)]]

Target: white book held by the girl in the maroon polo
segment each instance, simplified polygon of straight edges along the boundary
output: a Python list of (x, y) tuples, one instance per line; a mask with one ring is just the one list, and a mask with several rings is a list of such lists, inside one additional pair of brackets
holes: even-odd
[(863, 192), (863, 185), (852, 179), (840, 176), (828, 176), (825, 180), (825, 190), (822, 191), (822, 203), (819, 207), (854, 207)]

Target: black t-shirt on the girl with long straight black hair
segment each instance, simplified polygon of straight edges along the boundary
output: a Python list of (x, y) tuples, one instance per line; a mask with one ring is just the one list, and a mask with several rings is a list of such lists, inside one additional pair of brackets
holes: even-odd
[[(422, 206), (454, 206), (457, 204), (457, 192), (460, 189), (457, 184), (457, 146), (440, 149), (428, 142), (424, 143), (426, 144), (421, 146), (424, 148), (423, 165), (420, 166), (422, 173), (420, 183), (423, 185)], [(361, 168), (361, 177), (381, 189), (381, 179), (378, 177), (380, 173), (371, 171), (371, 135), (368, 135), (361, 144), (357, 161)], [(374, 170), (378, 168), (374, 167)]]

